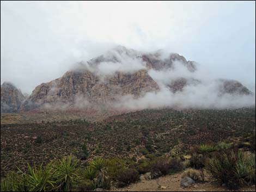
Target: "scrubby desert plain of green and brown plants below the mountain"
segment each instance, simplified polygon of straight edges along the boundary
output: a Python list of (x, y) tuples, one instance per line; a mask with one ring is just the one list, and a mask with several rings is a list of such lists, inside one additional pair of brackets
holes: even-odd
[(255, 184), (254, 128), (253, 108), (148, 109), (101, 122), (5, 124), (1, 190), (20, 190), (33, 174), (40, 185), (23, 190), (107, 190), (142, 175), (155, 179), (175, 172), (199, 183), (211, 175), (238, 189)]

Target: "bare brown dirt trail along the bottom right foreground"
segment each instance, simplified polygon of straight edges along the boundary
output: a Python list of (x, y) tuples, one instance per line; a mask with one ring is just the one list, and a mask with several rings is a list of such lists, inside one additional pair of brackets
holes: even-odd
[[(181, 188), (180, 179), (182, 173), (167, 175), (150, 181), (140, 181), (125, 188), (114, 189), (114, 191), (228, 191), (216, 182), (199, 183), (190, 188)], [(166, 187), (166, 189), (161, 189)], [(255, 191), (255, 185), (242, 188), (239, 191)]]

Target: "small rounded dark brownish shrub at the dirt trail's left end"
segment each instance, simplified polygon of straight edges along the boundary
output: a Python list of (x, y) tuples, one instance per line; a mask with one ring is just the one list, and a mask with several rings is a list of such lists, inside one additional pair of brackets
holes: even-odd
[(117, 180), (119, 186), (123, 187), (126, 184), (135, 183), (139, 180), (139, 172), (136, 169), (125, 169), (118, 171)]

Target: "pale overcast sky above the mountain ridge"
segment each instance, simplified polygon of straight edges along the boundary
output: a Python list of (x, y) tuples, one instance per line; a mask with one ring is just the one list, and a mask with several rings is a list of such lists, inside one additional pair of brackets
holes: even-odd
[(31, 94), (116, 45), (176, 52), (255, 86), (255, 2), (1, 1), (1, 84)]

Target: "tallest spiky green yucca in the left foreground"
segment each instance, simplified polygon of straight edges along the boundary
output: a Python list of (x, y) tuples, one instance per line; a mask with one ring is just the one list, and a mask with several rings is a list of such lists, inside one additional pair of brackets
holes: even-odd
[(77, 187), (77, 184), (80, 182), (80, 177), (77, 175), (78, 162), (78, 159), (69, 156), (54, 164), (56, 183), (59, 190), (70, 191), (72, 188)]

